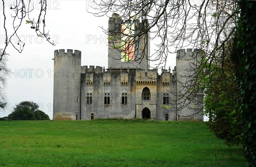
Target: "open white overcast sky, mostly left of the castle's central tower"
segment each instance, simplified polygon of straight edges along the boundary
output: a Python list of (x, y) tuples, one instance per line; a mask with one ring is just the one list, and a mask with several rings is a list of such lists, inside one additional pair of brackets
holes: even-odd
[[(55, 46), (50, 45), (45, 39), (36, 37), (35, 29), (31, 25), (22, 24), (19, 37), (26, 40), (23, 52), (18, 53), (12, 45), (6, 49), (8, 68), (11, 73), (7, 76), (6, 95), (8, 107), (0, 111), (0, 117), (12, 112), (15, 104), (24, 100), (34, 101), (40, 105), (40, 110), (47, 113), (52, 119), (53, 103), (53, 60), (54, 51), (58, 49), (79, 50), (82, 53), (81, 65), (97, 65), (108, 67), (107, 36), (99, 28), (108, 28), (108, 17), (95, 17), (86, 9), (93, 6), (90, 0), (51, 0), (48, 2), (46, 25), (55, 40)], [(9, 6), (12, 1), (5, 1)], [(38, 2), (35, 3), (35, 11)], [(2, 2), (1, 2), (2, 9)], [(9, 10), (9, 7), (7, 8)], [(90, 9), (91, 11), (91, 9)], [(33, 13), (35, 18), (36, 13)], [(33, 15), (30, 14), (33, 18)], [(7, 19), (10, 16), (7, 16)], [(12, 23), (8, 22), (11, 26)], [(0, 48), (3, 48), (3, 14), (0, 15)], [(15, 38), (13, 39), (15, 41)], [(18, 42), (17, 39), (15, 41)], [(151, 41), (151, 50), (154, 48)], [(153, 51), (151, 51), (153, 53)], [(170, 55), (166, 63), (174, 68), (175, 55)], [(151, 62), (154, 65), (154, 62)]]

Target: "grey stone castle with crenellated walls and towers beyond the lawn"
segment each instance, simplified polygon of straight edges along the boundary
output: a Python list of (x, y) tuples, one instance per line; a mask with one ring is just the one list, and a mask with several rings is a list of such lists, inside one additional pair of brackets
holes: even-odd
[[(113, 14), (109, 19), (109, 30), (116, 28), (117, 23), (125, 22)], [(132, 24), (141, 23), (137, 20)], [(121, 42), (114, 41), (115, 44)], [(64, 49), (55, 50), (53, 119), (203, 121), (202, 111), (198, 111), (202, 107), (202, 98), (199, 98), (202, 94), (196, 94), (196, 98), (190, 101), (184, 86), (191, 83), (189, 77), (193, 74), (189, 69), (200, 60), (198, 51), (178, 50), (174, 70), (169, 68), (158, 74), (156, 68), (149, 69), (149, 42), (144, 38), (136, 47), (145, 51), (140, 63), (132, 61), (136, 59), (137, 51), (127, 56), (109, 46), (107, 69), (81, 66), (81, 51), (67, 49), (65, 53)]]

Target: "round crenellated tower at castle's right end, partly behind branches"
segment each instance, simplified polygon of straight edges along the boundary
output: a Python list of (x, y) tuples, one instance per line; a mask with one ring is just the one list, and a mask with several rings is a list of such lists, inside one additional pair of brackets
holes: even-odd
[[(203, 120), (200, 111), (203, 94), (200, 93), (195, 80), (200, 60), (201, 54), (198, 49), (177, 50), (177, 114), (180, 115), (180, 120)], [(194, 113), (196, 114), (193, 115)]]

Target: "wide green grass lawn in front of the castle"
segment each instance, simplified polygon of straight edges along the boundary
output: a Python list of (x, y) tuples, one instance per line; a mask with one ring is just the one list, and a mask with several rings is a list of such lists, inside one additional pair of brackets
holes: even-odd
[(204, 122), (1, 121), (0, 166), (245, 167)]

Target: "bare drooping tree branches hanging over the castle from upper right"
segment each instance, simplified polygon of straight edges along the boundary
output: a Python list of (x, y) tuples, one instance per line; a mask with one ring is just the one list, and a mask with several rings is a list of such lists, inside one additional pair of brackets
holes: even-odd
[[(137, 63), (142, 59), (149, 59), (155, 62), (154, 68), (165, 69), (166, 59), (171, 54), (186, 47), (197, 48), (192, 57), (180, 58), (188, 61), (190, 68), (184, 69), (186, 76), (177, 72), (177, 78), (186, 77), (186, 79), (177, 81), (178, 91), (170, 92), (171, 97), (175, 97), (170, 102), (177, 104), (172, 111), (177, 112), (184, 108), (195, 111), (193, 114), (189, 113), (187, 117), (202, 111), (205, 90), (202, 90), (201, 82), (204, 77), (209, 76), (211, 79), (212, 64), (224, 63), (221, 60), (224, 59), (225, 54), (220, 52), (231, 45), (229, 41), (233, 38), (237, 21), (237, 2), (233, 0), (102, 0), (94, 2), (96, 7), (89, 10), (93, 15), (111, 17), (112, 13), (116, 13), (118, 16), (114, 18), (115, 28), (102, 29), (109, 37), (115, 37), (109, 39), (109, 46), (116, 48), (119, 52), (124, 51), (122, 46), (116, 46), (116, 43), (122, 40), (120, 28), (126, 23), (136, 25), (137, 20), (141, 21), (141, 25), (135, 27), (136, 33), (127, 34), (126, 37), (136, 45), (134, 52), (137, 53), (137, 57), (133, 61)], [(150, 32), (150, 40), (154, 40), (156, 44), (154, 52), (146, 57), (145, 48), (137, 46), (142, 39), (145, 39), (143, 37), (148, 32)], [(129, 53), (129, 50), (125, 52)], [(220, 72), (224, 73), (224, 71)], [(190, 106), (198, 101), (201, 104)]]

